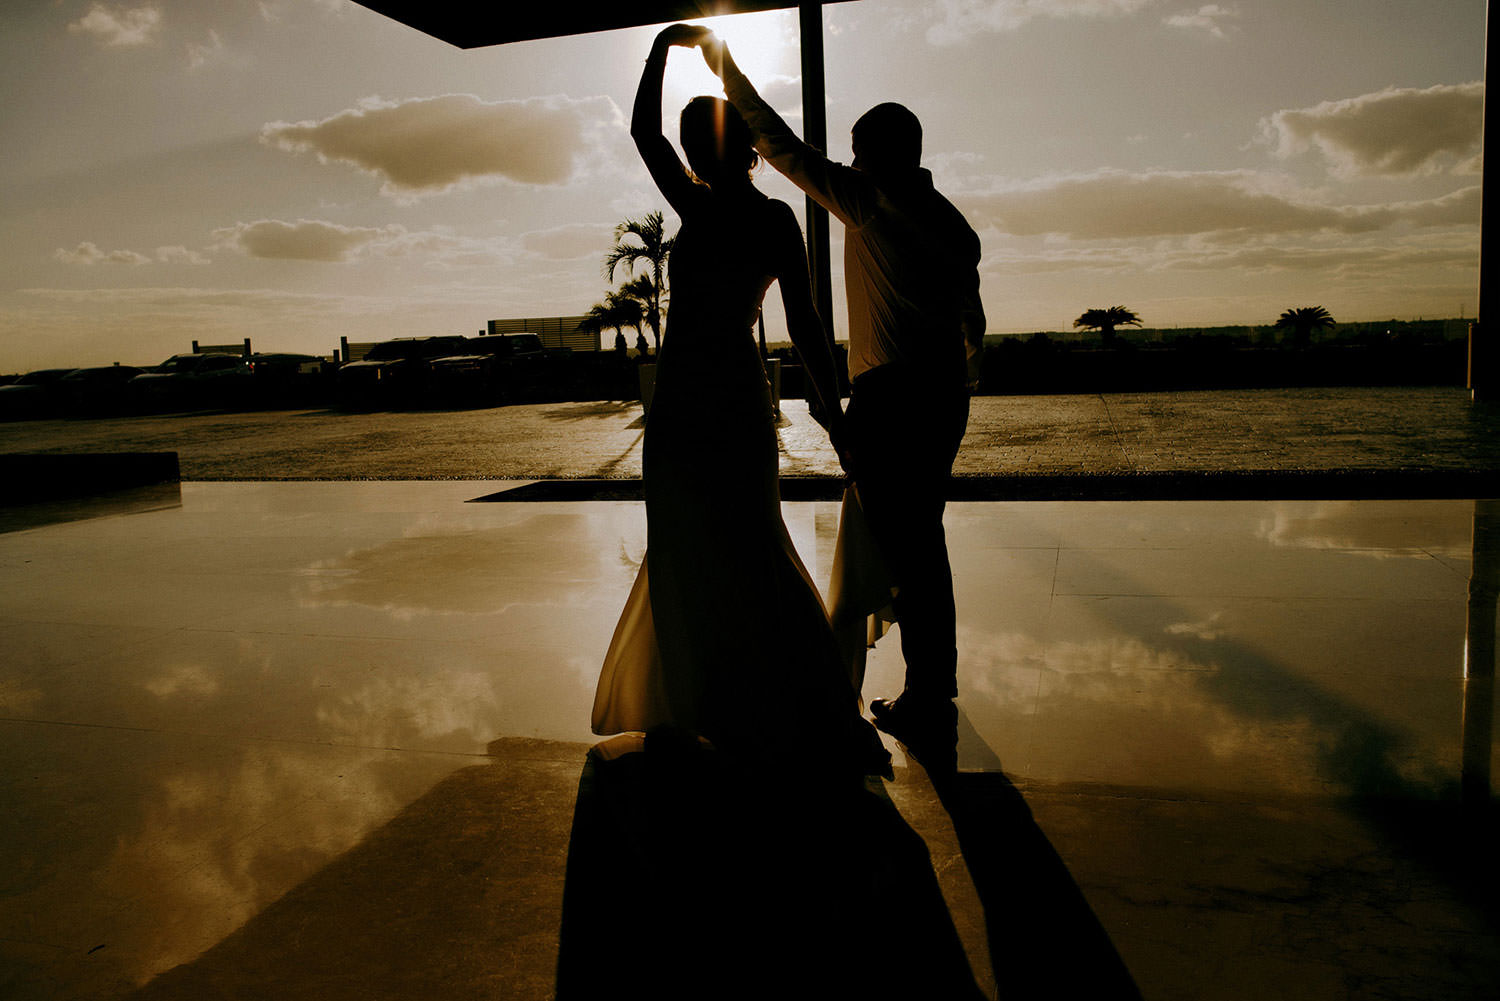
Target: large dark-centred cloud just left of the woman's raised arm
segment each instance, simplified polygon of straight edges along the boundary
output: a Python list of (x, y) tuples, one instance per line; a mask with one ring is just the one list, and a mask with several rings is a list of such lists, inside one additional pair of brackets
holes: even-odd
[(436, 194), (477, 182), (561, 185), (618, 129), (609, 98), (480, 101), (442, 95), (410, 101), (370, 98), (320, 122), (272, 122), (261, 140), (320, 161), (352, 164), (381, 177), (398, 198)]

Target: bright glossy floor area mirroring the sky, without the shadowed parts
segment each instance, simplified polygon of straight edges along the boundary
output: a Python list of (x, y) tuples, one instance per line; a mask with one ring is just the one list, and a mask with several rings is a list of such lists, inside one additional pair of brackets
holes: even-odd
[[(594, 740), (644, 509), (465, 503), (506, 486), (184, 483), (180, 506), (0, 534), (0, 995), (142, 984), (492, 741)], [(819, 581), (837, 516), (786, 506)], [(1466, 719), (1473, 516), (952, 504), (960, 765), (1158, 798), (1456, 798), (1496, 761), (1473, 746), (1492, 689)], [(866, 696), (898, 687), (892, 635)]]

